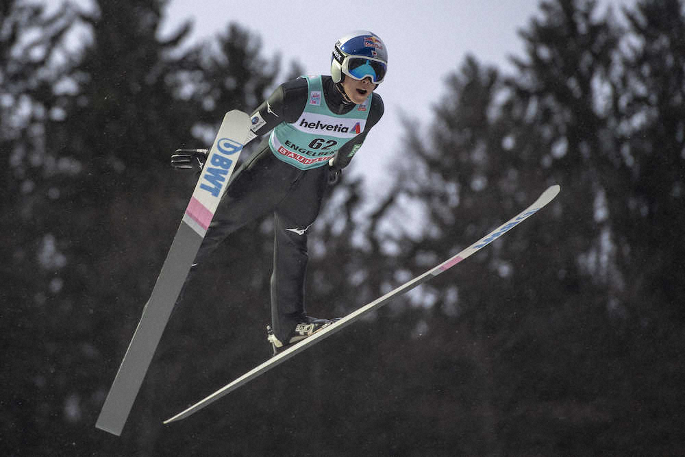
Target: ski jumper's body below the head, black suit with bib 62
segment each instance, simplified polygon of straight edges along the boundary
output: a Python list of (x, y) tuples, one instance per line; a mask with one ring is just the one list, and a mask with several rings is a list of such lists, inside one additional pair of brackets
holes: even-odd
[(307, 231), (329, 173), (349, 164), (383, 111), (379, 95), (346, 103), (331, 77), (313, 76), (282, 84), (251, 116), (253, 132), (273, 131), (234, 173), (193, 269), (231, 232), (273, 212), (271, 321), (280, 341), (306, 316)]

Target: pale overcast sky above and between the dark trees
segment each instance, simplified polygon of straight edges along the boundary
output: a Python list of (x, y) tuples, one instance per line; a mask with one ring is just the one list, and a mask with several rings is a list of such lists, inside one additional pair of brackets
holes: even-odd
[[(50, 3), (51, 0), (48, 0)], [(77, 0), (84, 5), (88, 0)], [(231, 21), (262, 39), (262, 53), (282, 55), (285, 71), (297, 61), (307, 74), (330, 74), (333, 45), (340, 36), (369, 29), (388, 49), (388, 75), (377, 88), (386, 112), (351, 163), (372, 188), (382, 188), (384, 167), (401, 145), (401, 113), (416, 129), (431, 121), (431, 106), (445, 94), (445, 77), (471, 53), (483, 64), (509, 71), (510, 55), (523, 55), (517, 31), (538, 15), (538, 0), (171, 0), (162, 34), (187, 20), (194, 23), (190, 42), (225, 32)], [(608, 5), (635, 0), (601, 0)], [(280, 81), (279, 81), (280, 82)], [(232, 107), (225, 107), (231, 110)], [(373, 185), (375, 183), (375, 185)]]

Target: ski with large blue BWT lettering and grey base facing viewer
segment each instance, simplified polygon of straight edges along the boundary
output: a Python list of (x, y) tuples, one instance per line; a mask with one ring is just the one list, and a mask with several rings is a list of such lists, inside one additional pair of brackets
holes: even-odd
[(223, 118), (169, 254), (95, 423), (95, 427), (105, 432), (120, 435), (123, 430), (192, 261), (246, 138), (249, 138), (250, 125), (249, 116), (238, 110), (227, 112)]

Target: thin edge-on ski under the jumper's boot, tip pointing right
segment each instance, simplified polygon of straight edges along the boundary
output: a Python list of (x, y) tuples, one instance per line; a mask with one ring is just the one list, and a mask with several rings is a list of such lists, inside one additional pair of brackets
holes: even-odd
[(419, 284), (423, 284), (423, 282), (432, 279), (432, 277), (435, 277), (440, 273), (447, 271), (451, 267), (454, 267), (456, 264), (458, 264), (465, 258), (468, 258), (472, 254), (475, 254), (475, 252), (479, 251), (486, 245), (489, 245), (494, 240), (496, 240), (512, 228), (516, 227), (516, 225), (519, 225), (519, 223), (525, 221), (525, 219), (531, 217), (533, 214), (538, 212), (538, 210), (540, 210), (545, 205), (547, 205), (547, 203), (552, 201), (552, 199), (556, 197), (559, 191), (560, 187), (556, 185), (547, 188), (547, 190), (545, 190), (545, 192), (543, 192), (542, 195), (540, 195), (540, 197), (538, 197), (538, 199), (536, 199), (536, 201), (532, 203), (532, 205), (530, 205), (528, 208), (517, 214), (515, 217), (513, 217), (503, 225), (497, 227), (497, 229), (493, 230), (493, 232), (490, 232), (483, 238), (477, 240), (475, 243), (473, 243), (473, 245), (467, 247), (459, 254), (452, 256), (451, 258), (445, 260), (445, 262), (438, 264), (436, 267), (430, 269), (429, 271), (426, 271), (422, 275), (414, 277), (414, 279), (409, 280), (408, 282), (395, 288), (395, 290), (386, 293), (386, 295), (383, 295), (382, 297), (379, 297), (374, 301), (371, 301), (371, 303), (362, 306), (358, 310), (353, 311), (350, 314), (347, 314), (346, 317), (343, 317), (343, 319), (340, 319), (333, 325), (329, 325), (328, 327), (324, 328), (323, 330), (320, 330), (319, 332), (316, 332), (312, 336), (309, 336), (308, 338), (300, 341), (299, 343), (295, 343), (294, 345), (288, 347), (288, 349), (282, 351), (276, 356), (273, 356), (273, 358), (266, 360), (266, 362), (262, 363), (261, 365), (258, 365), (258, 367), (240, 376), (240, 378), (237, 378), (233, 382), (227, 384), (226, 386), (223, 386), (218, 391), (212, 393), (212, 395), (209, 395), (208, 397), (202, 399), (201, 401), (190, 406), (186, 410), (179, 412), (177, 415), (169, 419), (166, 419), (164, 423), (171, 423), (173, 421), (185, 419), (186, 417), (201, 410), (202, 408), (205, 408), (206, 406), (216, 402), (216, 400), (220, 399), (227, 393), (236, 390), (236, 388), (244, 384), (247, 384), (247, 382), (250, 382), (251, 380), (257, 378), (259, 375), (266, 373), (266, 371), (269, 371), (270, 369), (277, 367), (278, 365), (282, 364), (292, 356), (295, 356), (296, 354), (299, 354), (301, 351), (307, 349), (308, 347), (311, 347), (312, 345), (319, 343), (319, 341), (323, 340), (323, 338), (327, 338), (328, 336), (331, 336), (332, 334), (339, 332), (340, 330), (343, 330), (343, 328), (347, 327), (347, 325), (350, 325), (351, 323), (358, 321), (362, 316), (364, 316), (364, 314), (368, 314), (373, 310), (377, 310), (381, 306), (387, 304), (388, 301), (390, 301), (391, 299), (404, 293), (407, 293), (414, 287), (419, 286)]

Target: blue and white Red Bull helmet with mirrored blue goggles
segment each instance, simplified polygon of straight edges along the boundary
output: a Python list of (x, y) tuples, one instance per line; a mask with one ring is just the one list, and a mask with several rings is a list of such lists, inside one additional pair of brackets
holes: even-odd
[(357, 30), (336, 42), (331, 59), (333, 82), (341, 82), (347, 75), (359, 80), (371, 77), (373, 84), (380, 84), (387, 70), (388, 50), (376, 34)]

